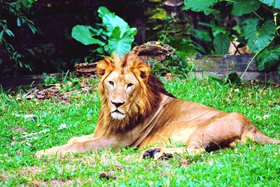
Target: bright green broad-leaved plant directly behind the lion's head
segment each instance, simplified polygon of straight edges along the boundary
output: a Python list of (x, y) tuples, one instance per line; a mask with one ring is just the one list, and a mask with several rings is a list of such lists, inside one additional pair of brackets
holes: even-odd
[(72, 29), (73, 39), (84, 45), (97, 44), (99, 47), (93, 53), (124, 55), (129, 52), (137, 29), (130, 28), (125, 20), (104, 6), (99, 7), (98, 13), (102, 19), (102, 27), (97, 25), (97, 29), (94, 29), (87, 25), (76, 25)]

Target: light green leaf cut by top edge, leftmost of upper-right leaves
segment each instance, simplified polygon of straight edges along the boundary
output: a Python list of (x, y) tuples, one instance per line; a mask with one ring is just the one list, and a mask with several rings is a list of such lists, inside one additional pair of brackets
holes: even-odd
[(195, 12), (206, 11), (207, 8), (216, 4), (217, 0), (186, 0), (183, 10), (192, 10)]

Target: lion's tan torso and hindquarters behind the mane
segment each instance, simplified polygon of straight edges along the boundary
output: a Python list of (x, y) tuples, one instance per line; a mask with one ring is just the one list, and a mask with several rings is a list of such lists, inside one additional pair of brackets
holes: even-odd
[(247, 138), (264, 144), (276, 143), (274, 139), (262, 136), (255, 125), (239, 113), (225, 113), (203, 104), (169, 98), (154, 130), (139, 146), (155, 142), (165, 146), (171, 140), (172, 143), (211, 150), (217, 146), (230, 146), (238, 140), (245, 142)]

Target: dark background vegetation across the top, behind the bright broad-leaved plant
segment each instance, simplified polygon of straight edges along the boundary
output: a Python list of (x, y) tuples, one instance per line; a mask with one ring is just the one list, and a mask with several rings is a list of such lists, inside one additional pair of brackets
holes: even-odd
[[(15, 3), (22, 6), (18, 11), (5, 8)], [(94, 27), (100, 23), (100, 6), (109, 8), (130, 27), (137, 27), (132, 48), (159, 41), (186, 59), (195, 54), (225, 55), (230, 42), (237, 39), (241, 46), (248, 44), (254, 49), (259, 70), (275, 69), (279, 64), (280, 15), (275, 0), (0, 0), (0, 78), (62, 72), (73, 70), (80, 62), (99, 60), (101, 55), (90, 52), (97, 46), (76, 41), (71, 30), (75, 25)], [(19, 18), (31, 23), (19, 23)], [(32, 22), (34, 28), (30, 29)], [(3, 36), (3, 25), (15, 36), (8, 36), (8, 32)], [(255, 48), (250, 41), (263, 42), (261, 48)], [(8, 55), (7, 43), (14, 48)], [(89, 54), (93, 57), (88, 58)]]

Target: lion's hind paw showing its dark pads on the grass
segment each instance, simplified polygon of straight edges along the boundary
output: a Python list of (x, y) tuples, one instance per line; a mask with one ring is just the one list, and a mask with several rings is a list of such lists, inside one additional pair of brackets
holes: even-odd
[(169, 159), (173, 157), (173, 151), (167, 151), (165, 148), (149, 148), (144, 151), (142, 158)]

